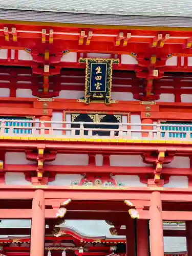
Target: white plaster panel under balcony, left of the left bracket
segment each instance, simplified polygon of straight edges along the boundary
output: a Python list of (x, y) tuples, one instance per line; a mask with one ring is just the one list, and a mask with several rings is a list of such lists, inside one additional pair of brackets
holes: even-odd
[(6, 164), (35, 164), (34, 161), (26, 159), (24, 152), (6, 152), (5, 154)]

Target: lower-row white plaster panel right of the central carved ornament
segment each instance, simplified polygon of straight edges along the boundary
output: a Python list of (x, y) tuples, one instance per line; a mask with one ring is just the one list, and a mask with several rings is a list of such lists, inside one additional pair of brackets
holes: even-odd
[(113, 176), (118, 186), (126, 187), (146, 187), (147, 184), (140, 182), (139, 176), (137, 175), (115, 175)]

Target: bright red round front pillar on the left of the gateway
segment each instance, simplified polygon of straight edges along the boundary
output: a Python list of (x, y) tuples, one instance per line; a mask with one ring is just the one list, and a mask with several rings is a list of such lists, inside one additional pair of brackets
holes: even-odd
[(30, 256), (44, 256), (45, 198), (41, 189), (35, 191), (32, 212)]

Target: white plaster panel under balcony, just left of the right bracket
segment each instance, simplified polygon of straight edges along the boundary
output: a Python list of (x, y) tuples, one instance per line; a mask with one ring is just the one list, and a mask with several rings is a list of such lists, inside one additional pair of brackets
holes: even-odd
[(138, 155), (111, 155), (111, 166), (150, 166), (143, 163), (143, 159)]

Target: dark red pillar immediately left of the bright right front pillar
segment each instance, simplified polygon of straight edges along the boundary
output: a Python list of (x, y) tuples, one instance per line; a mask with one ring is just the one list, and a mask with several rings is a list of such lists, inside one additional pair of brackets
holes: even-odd
[(137, 256), (148, 256), (148, 221), (137, 220)]

